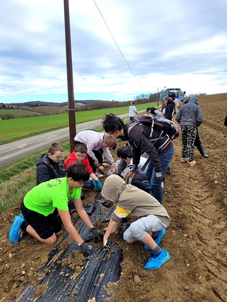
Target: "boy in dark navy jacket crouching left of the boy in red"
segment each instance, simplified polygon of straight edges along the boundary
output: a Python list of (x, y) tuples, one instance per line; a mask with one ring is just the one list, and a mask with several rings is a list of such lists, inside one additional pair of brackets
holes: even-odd
[(63, 149), (58, 143), (53, 143), (48, 149), (48, 154), (41, 155), (36, 162), (36, 185), (54, 178), (66, 175)]

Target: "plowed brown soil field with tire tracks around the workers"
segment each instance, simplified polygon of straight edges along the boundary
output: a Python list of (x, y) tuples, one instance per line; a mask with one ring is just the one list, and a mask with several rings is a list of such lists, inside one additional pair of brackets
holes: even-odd
[[(149, 252), (142, 243), (125, 243), (122, 230), (113, 234), (112, 241), (124, 254), (116, 302), (227, 302), (226, 95), (201, 97), (200, 105), (204, 122), (199, 134), (209, 159), (195, 150), (197, 164), (181, 164), (179, 137), (163, 188), (171, 223), (160, 246), (171, 259), (157, 271), (146, 271)], [(12, 301), (28, 281), (37, 283), (40, 276), (35, 271), (53, 249), (30, 236), (14, 246), (9, 243), (6, 232), (19, 210), (17, 202), (0, 216), (0, 301)]]

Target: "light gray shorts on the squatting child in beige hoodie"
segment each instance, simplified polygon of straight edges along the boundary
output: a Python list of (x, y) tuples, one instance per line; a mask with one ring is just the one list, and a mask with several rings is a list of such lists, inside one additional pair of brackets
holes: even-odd
[(148, 215), (131, 223), (129, 228), (124, 232), (123, 238), (127, 241), (134, 239), (143, 240), (146, 233), (156, 232), (166, 228), (167, 225), (156, 216)]

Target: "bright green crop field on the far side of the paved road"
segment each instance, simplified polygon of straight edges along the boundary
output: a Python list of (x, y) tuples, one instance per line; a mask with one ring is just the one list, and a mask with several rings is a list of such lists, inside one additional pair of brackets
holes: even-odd
[[(137, 105), (137, 110), (156, 106), (156, 103)], [(1, 109), (3, 110), (3, 109)], [(76, 123), (84, 123), (104, 117), (104, 114), (123, 114), (129, 110), (127, 107), (83, 111), (76, 113)], [(7, 110), (8, 111), (8, 110)], [(22, 111), (22, 110), (21, 110)], [(40, 117), (17, 118), (0, 120), (0, 145), (20, 140), (25, 137), (45, 133), (52, 130), (68, 127), (68, 114), (56, 114)]]

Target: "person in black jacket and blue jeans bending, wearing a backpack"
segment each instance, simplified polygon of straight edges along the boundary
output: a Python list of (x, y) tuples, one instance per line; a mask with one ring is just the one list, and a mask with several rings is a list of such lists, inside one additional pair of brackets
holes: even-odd
[[(162, 182), (165, 180), (166, 170), (174, 154), (172, 142), (164, 149), (160, 150), (162, 140), (156, 140), (153, 144), (150, 142), (151, 127), (146, 124), (137, 124), (132, 129), (129, 127), (134, 122), (124, 124), (116, 114), (106, 114), (103, 119), (103, 128), (113, 137), (124, 136), (133, 149), (133, 171), (136, 171), (140, 163), (141, 151), (146, 152), (150, 157), (150, 162), (146, 170), (146, 179), (150, 182), (153, 190), (153, 196), (162, 204)], [(152, 139), (159, 138), (160, 131), (153, 128)]]

